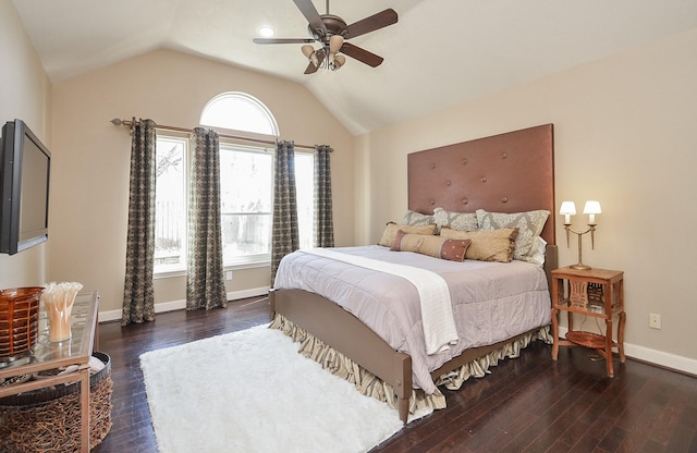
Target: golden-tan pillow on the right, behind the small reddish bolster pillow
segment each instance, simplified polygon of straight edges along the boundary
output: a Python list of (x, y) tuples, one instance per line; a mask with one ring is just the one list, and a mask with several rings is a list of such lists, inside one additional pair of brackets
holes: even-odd
[(479, 261), (511, 262), (515, 249), (517, 228), (504, 228), (492, 231), (457, 231), (443, 228), (440, 236), (451, 240), (469, 240), (465, 258)]

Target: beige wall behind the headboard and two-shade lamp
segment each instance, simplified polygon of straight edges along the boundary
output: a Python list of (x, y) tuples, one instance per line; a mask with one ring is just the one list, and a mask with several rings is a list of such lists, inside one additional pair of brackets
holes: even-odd
[[(356, 187), (372, 195), (358, 205), (364, 242), (406, 208), (406, 154), (553, 123), (558, 208), (566, 199), (602, 205), (584, 262), (625, 271), (627, 352), (692, 359), (685, 368), (697, 372), (696, 54), (693, 29), (359, 137), (369, 150), (356, 168), (370, 171), (356, 175)], [(575, 220), (580, 228), (583, 216)], [(566, 248), (559, 221), (557, 236), (560, 265), (576, 262), (576, 242)], [(661, 315), (662, 330), (649, 329), (649, 314)]]

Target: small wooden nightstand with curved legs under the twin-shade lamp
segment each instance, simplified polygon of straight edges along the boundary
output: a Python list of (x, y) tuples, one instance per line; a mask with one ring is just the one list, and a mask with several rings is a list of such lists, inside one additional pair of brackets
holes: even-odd
[[(557, 360), (559, 346), (585, 346), (596, 350), (606, 358), (608, 376), (614, 376), (612, 350), (617, 348), (624, 363), (624, 272), (619, 270), (577, 270), (570, 267), (552, 271), (552, 359)], [(568, 332), (566, 340), (559, 338), (560, 310), (566, 311)], [(606, 334), (574, 330), (574, 314), (602, 319)], [(613, 340), (612, 320), (617, 321), (617, 340)]]

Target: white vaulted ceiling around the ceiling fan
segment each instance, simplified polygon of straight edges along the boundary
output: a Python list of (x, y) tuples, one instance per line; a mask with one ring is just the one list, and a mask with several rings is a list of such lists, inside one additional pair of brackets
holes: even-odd
[(252, 42), (307, 37), (292, 0), (13, 1), (53, 82), (169, 48), (301, 83), (354, 134), (697, 27), (697, 0), (333, 0), (350, 24), (398, 12), (351, 40), (384, 62), (304, 75), (301, 45)]

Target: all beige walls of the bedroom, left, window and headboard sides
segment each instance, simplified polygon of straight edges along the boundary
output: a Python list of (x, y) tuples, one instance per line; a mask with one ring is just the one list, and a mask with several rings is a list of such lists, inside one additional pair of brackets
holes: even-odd
[[(130, 137), (109, 123), (114, 117), (191, 127), (221, 91), (256, 96), (276, 114), (283, 138), (337, 149), (338, 245), (374, 243), (386, 221), (402, 216), (406, 154), (554, 123), (558, 205), (599, 199), (603, 207), (596, 249), (586, 242), (584, 261), (625, 271), (627, 353), (697, 372), (695, 54), (690, 30), (352, 137), (295, 84), (167, 50), (51, 87), (14, 7), (0, 0), (0, 120), (25, 120), (53, 155), (50, 240), (0, 255), (0, 287), (77, 280), (99, 290), (102, 311), (121, 307)], [(560, 262), (573, 264), (575, 242), (566, 248), (557, 228)], [(236, 271), (228, 290), (258, 287), (267, 276)], [(156, 286), (160, 306), (184, 297), (183, 279)], [(648, 328), (651, 313), (661, 315), (662, 330)]]

